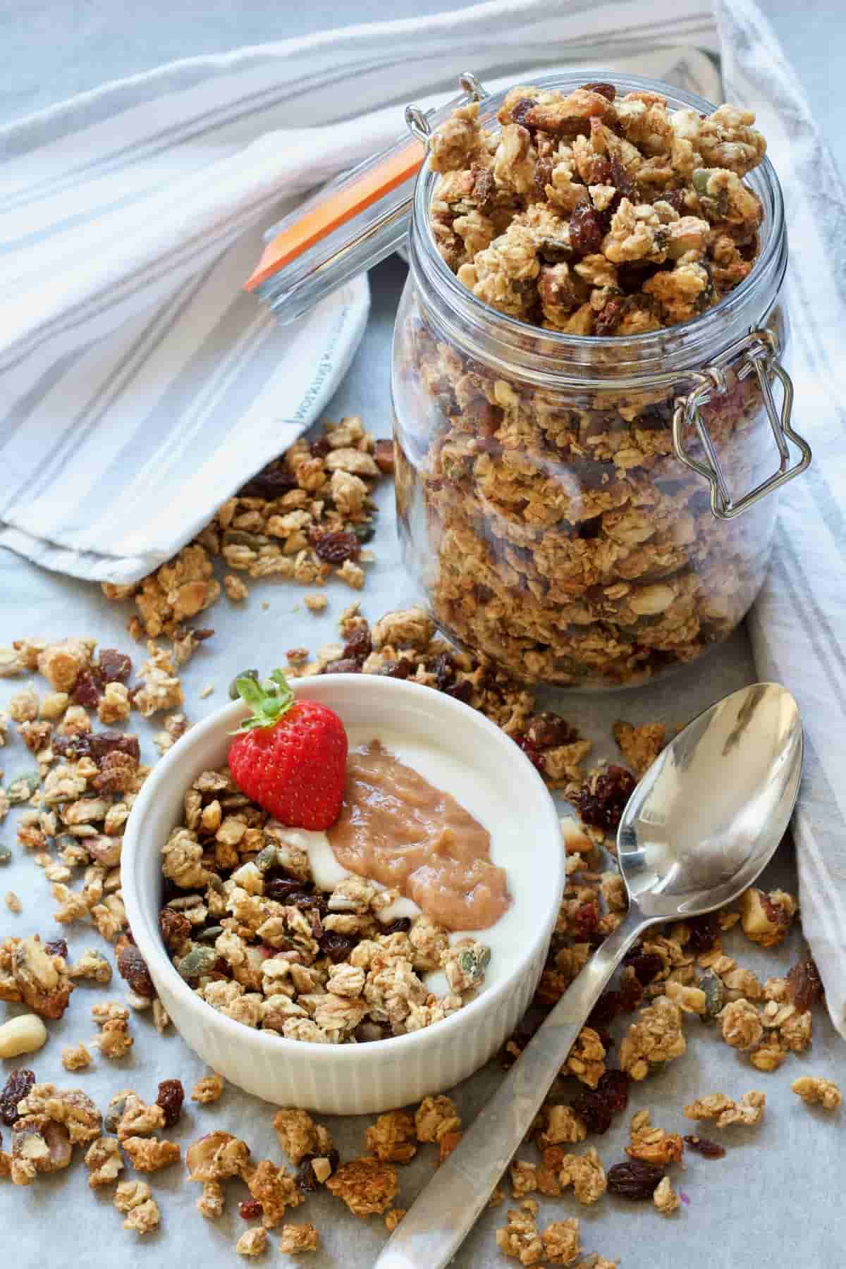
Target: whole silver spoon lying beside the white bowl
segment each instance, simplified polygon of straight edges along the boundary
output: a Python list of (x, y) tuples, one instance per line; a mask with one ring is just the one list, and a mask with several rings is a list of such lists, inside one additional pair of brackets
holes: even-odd
[(448, 1264), (529, 1131), (637, 938), (722, 907), (752, 884), (799, 792), (802, 723), (790, 693), (756, 683), (685, 727), (634, 789), (616, 835), (629, 911), (564, 992), (473, 1126), (402, 1218), (374, 1269)]

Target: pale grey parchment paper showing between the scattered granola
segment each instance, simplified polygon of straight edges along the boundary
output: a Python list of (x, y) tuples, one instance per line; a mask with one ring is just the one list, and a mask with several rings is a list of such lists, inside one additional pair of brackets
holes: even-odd
[[(344, 414), (360, 414), (377, 435), (388, 435), (389, 420), (389, 340), (393, 313), (405, 278), (405, 265), (396, 258), (372, 274), (373, 311), (368, 335), (341, 390), (327, 414), (337, 419)], [(375, 565), (368, 570), (367, 589), (361, 595), (363, 610), (370, 618), (413, 599), (411, 584), (405, 577), (396, 547), (392, 490), (386, 485), (381, 494), (382, 516), (372, 547)], [(313, 617), (302, 604), (304, 591), (290, 584), (273, 581), (254, 584), (246, 608), (221, 600), (208, 614), (216, 628), (214, 638), (185, 667), (186, 712), (198, 721), (227, 699), (232, 676), (247, 666), (269, 669), (284, 665), (285, 650), (334, 641), (336, 619), (353, 598), (348, 588), (330, 584), (326, 589), (330, 607)], [(263, 603), (268, 604), (265, 609)], [(117, 646), (133, 655), (136, 666), (142, 660), (141, 648), (132, 646), (126, 633), (128, 609), (108, 604), (99, 588), (47, 574), (16, 556), (0, 552), (0, 643), (22, 636), (65, 637), (70, 634), (96, 637), (103, 646)], [(568, 697), (558, 704), (566, 716), (596, 744), (597, 756), (614, 756), (610, 727), (615, 718), (632, 722), (663, 721), (670, 728), (684, 725), (700, 709), (723, 694), (755, 679), (750, 646), (745, 631), (723, 645), (703, 662), (677, 674), (666, 684), (629, 690), (614, 695)], [(199, 692), (214, 684), (214, 693), (205, 700)], [(11, 695), (15, 680), (0, 681), (0, 708)], [(556, 700), (553, 695), (549, 698)], [(133, 716), (134, 722), (134, 716)], [(155, 722), (155, 720), (153, 720)], [(142, 735), (146, 754), (153, 756), (150, 744), (153, 728), (141, 720), (134, 726)], [(14, 728), (13, 728), (14, 731)], [(32, 766), (29, 755), (18, 739), (0, 750), (0, 765), (6, 782), (15, 773)], [(0, 869), (0, 892), (14, 890), (24, 911), (13, 916), (0, 907), (0, 934), (27, 935), (38, 931), (44, 938), (66, 934), (72, 956), (86, 947), (103, 948), (96, 931), (74, 925), (60, 929), (52, 920), (55, 902), (41, 869), (23, 854), (14, 841), (14, 820), (10, 815), (0, 829), (0, 840), (14, 850), (13, 864)], [(767, 887), (783, 886), (795, 891), (795, 868), (791, 850), (783, 846), (765, 877)], [(752, 968), (761, 980), (786, 972), (804, 947), (794, 933), (789, 942), (772, 952), (752, 948), (741, 934), (726, 938), (727, 950), (738, 962)], [(15, 1065), (29, 1065), (39, 1080), (52, 1080), (63, 1088), (82, 1088), (103, 1109), (109, 1096), (119, 1089), (134, 1089), (150, 1101), (157, 1082), (179, 1077), (190, 1090), (203, 1074), (199, 1060), (174, 1034), (160, 1037), (148, 1013), (132, 1014), (134, 1048), (122, 1062), (109, 1062), (95, 1055), (88, 1071), (66, 1072), (60, 1062), (65, 1044), (88, 1042), (96, 1028), (90, 1019), (95, 1001), (126, 999), (126, 985), (115, 976), (110, 987), (80, 985), (65, 1018), (49, 1023), (47, 1046), (32, 1056), (0, 1062), (0, 1077)], [(3, 1006), (8, 1015), (19, 1006)], [(618, 1038), (624, 1023), (618, 1023)], [(743, 1055), (723, 1044), (712, 1028), (696, 1018), (686, 1022), (687, 1053), (671, 1062), (666, 1070), (635, 1085), (629, 1110), (615, 1121), (611, 1131), (591, 1138), (605, 1166), (625, 1159), (628, 1119), (635, 1110), (648, 1107), (653, 1122), (670, 1131), (690, 1133), (696, 1126), (685, 1119), (681, 1108), (694, 1098), (722, 1091), (739, 1096), (750, 1089), (762, 1089), (767, 1110), (757, 1128), (733, 1127), (723, 1132), (703, 1124), (704, 1136), (719, 1137), (728, 1148), (722, 1160), (705, 1160), (689, 1154), (686, 1169), (672, 1169), (674, 1184), (686, 1195), (680, 1211), (662, 1218), (652, 1204), (629, 1204), (616, 1198), (602, 1198), (595, 1208), (582, 1208), (571, 1194), (542, 1202), (540, 1223), (581, 1218), (585, 1253), (599, 1251), (616, 1260), (624, 1269), (728, 1269), (728, 1266), (802, 1265), (803, 1269), (840, 1266), (846, 1263), (846, 1226), (843, 1221), (842, 1164), (843, 1113), (827, 1114), (805, 1108), (790, 1093), (790, 1082), (812, 1071), (843, 1084), (846, 1049), (836, 1037), (822, 1008), (814, 1011), (813, 1048), (804, 1055), (791, 1055), (780, 1071), (761, 1074)], [(615, 1062), (611, 1053), (611, 1062)], [(464, 1122), (501, 1079), (496, 1062), (467, 1080), (455, 1090)], [(573, 1084), (573, 1093), (576, 1085)], [(183, 1150), (197, 1137), (214, 1128), (225, 1128), (245, 1138), (254, 1157), (282, 1161), (271, 1127), (274, 1108), (227, 1086), (222, 1099), (211, 1107), (186, 1101), (180, 1123), (167, 1136), (181, 1142)], [(327, 1119), (342, 1159), (364, 1152), (364, 1131), (372, 1119)], [(8, 1146), (8, 1132), (5, 1138)], [(583, 1148), (583, 1147), (582, 1147)], [(422, 1146), (419, 1156), (400, 1167), (401, 1194), (398, 1204), (408, 1207), (431, 1175), (435, 1151)], [(533, 1146), (517, 1157), (537, 1159)], [(127, 1173), (124, 1175), (133, 1175)], [(194, 1208), (199, 1185), (185, 1179), (184, 1167), (175, 1165), (146, 1178), (162, 1211), (161, 1230), (138, 1239), (122, 1228), (123, 1217), (112, 1206), (112, 1189), (93, 1193), (88, 1189), (88, 1173), (80, 1151), (67, 1171), (39, 1178), (29, 1189), (13, 1188), (0, 1181), (0, 1255), (4, 1265), (25, 1269), (58, 1269), (74, 1265), (80, 1269), (120, 1264), (134, 1266), (179, 1265), (180, 1269), (205, 1269), (208, 1265), (235, 1264), (235, 1241), (244, 1231), (237, 1204), (247, 1197), (240, 1181), (227, 1183), (227, 1209), (219, 1221), (205, 1221)], [(454, 1264), (458, 1269), (493, 1269), (507, 1263), (496, 1249), (495, 1230), (504, 1225), (510, 1200), (483, 1214)], [(322, 1250), (304, 1258), (311, 1269), (367, 1269), (373, 1265), (387, 1235), (379, 1217), (359, 1221), (330, 1194), (311, 1195), (302, 1207), (289, 1213), (292, 1221), (311, 1221), (320, 1230)], [(280, 1263), (277, 1249), (279, 1231), (270, 1235), (269, 1247), (260, 1263)], [(283, 1258), (287, 1263), (293, 1260)], [(427, 1269), (427, 1266), (421, 1266)]]

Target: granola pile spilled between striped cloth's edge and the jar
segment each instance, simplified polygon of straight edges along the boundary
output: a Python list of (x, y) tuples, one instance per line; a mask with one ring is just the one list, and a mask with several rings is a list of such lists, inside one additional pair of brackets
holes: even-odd
[[(214, 631), (186, 623), (222, 593), (232, 603), (249, 595), (245, 577), (279, 577), (322, 586), (334, 574), (360, 590), (373, 558), (361, 547), (374, 533), (372, 490), (393, 471), (393, 445), (374, 440), (356, 415), (327, 423), (317, 440), (299, 439), (264, 467), (214, 519), (167, 563), (128, 585), (103, 582), (107, 599), (133, 599), (136, 638), (166, 636), (183, 664)], [(223, 582), (214, 561), (227, 570)], [(320, 612), (322, 596), (309, 596)]]

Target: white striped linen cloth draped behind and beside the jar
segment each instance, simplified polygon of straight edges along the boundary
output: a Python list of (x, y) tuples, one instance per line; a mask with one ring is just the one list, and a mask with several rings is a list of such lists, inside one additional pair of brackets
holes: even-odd
[(562, 65), (714, 99), (720, 53), (724, 95), (769, 140), (791, 242), (789, 368), (817, 461), (783, 497), (751, 631), (761, 676), (803, 708), (803, 920), (846, 1034), (846, 198), (752, 0), (492, 0), (180, 61), (0, 132), (0, 546), (141, 577), (321, 412), (367, 280), (289, 327), (240, 288), (263, 230), (397, 136), (406, 102), (443, 102), (464, 70), (497, 86)]

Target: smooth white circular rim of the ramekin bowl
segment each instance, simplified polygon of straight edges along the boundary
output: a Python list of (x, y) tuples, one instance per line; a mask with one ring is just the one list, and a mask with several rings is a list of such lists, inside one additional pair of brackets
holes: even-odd
[[(506, 745), (510, 745), (512, 753), (509, 753), (509, 758), (514, 761), (515, 778), (520, 779), (528, 791), (531, 791), (531, 796), (538, 802), (538, 815), (549, 821), (549, 832), (561, 840), (558, 810), (549, 789), (544, 784), (534, 764), (526, 758), (511, 737), (502, 731), (501, 727), (479, 711), (473, 709), (471, 706), (467, 706), (453, 697), (448, 697), (444, 693), (435, 692), (425, 684), (408, 683), (403, 679), (392, 679), (387, 675), (361, 675), (360, 678), (361, 690), (367, 690), (369, 694), (374, 690), (388, 697), (396, 694), (397, 698), (407, 695), (420, 697), (421, 694), (425, 694), (426, 700), (434, 707), (435, 711), (440, 709), (444, 712), (446, 721), (452, 720), (455, 726), (464, 726), (471, 730), (474, 727), (479, 728), (481, 731), (487, 732), (487, 735), (492, 737), (502, 749), (505, 749)], [(309, 687), (321, 684), (320, 695), (322, 698), (323, 692), (331, 695), (332, 688), (337, 687), (341, 681), (348, 689), (351, 687), (353, 690), (355, 690), (358, 687), (356, 678), (350, 674), (325, 674), (320, 676), (313, 675), (302, 679), (292, 679), (290, 687), (294, 690), (294, 694), (299, 694), (301, 692), (307, 694)], [(323, 684), (325, 688), (322, 687)], [(322, 703), (329, 704), (329, 702)], [(178, 999), (180, 1006), (190, 1009), (194, 1013), (199, 1011), (208, 1025), (216, 1025), (219, 1028), (221, 1034), (228, 1036), (233, 1042), (240, 1042), (241, 1044), (257, 1044), (261, 1049), (266, 1049), (269, 1056), (278, 1056), (280, 1061), (285, 1061), (287, 1058), (299, 1055), (301, 1057), (307, 1057), (309, 1061), (327, 1062), (335, 1060), (336, 1056), (341, 1053), (350, 1056), (341, 1057), (340, 1061), (353, 1061), (354, 1056), (360, 1055), (363, 1049), (368, 1053), (368, 1057), (377, 1060), (392, 1057), (401, 1058), (408, 1055), (415, 1047), (420, 1048), (426, 1044), (431, 1039), (433, 1030), (436, 1032), (436, 1038), (439, 1041), (448, 1041), (450, 1034), (453, 1034), (459, 1027), (468, 1025), (476, 1014), (481, 1013), (482, 1009), (495, 1008), (495, 1005), (497, 1005), (506, 994), (514, 990), (515, 985), (530, 968), (531, 961), (537, 956), (539, 947), (552, 935), (552, 929), (556, 923), (558, 905), (561, 902), (561, 895), (564, 886), (563, 841), (561, 844), (559, 857), (556, 857), (556, 859), (550, 862), (553, 868), (557, 867), (557, 876), (550, 874), (549, 877), (549, 881), (554, 882), (554, 884), (550, 884), (549, 892), (556, 895), (556, 905), (550, 907), (549, 914), (535, 929), (535, 933), (526, 938), (520, 957), (511, 967), (510, 972), (502, 978), (501, 982), (496, 983), (496, 986), (491, 987), (488, 991), (482, 991), (474, 1000), (468, 1001), (454, 1014), (450, 1014), (448, 1018), (444, 1018), (430, 1027), (424, 1027), (420, 1030), (408, 1032), (405, 1036), (392, 1036), (387, 1039), (370, 1041), (364, 1046), (323, 1044), (316, 1041), (288, 1039), (278, 1032), (265, 1032), (257, 1028), (246, 1027), (244, 1023), (240, 1023), (233, 1018), (227, 1018), (226, 1014), (219, 1013), (219, 1010), (209, 1005), (208, 1001), (198, 996), (193, 987), (190, 987), (184, 978), (180, 977), (170, 957), (166, 954), (164, 945), (161, 944), (157, 926), (156, 929), (152, 928), (151, 919), (148, 917), (141, 898), (141, 887), (137, 884), (136, 879), (145, 846), (148, 849), (150, 845), (148, 843), (145, 844), (143, 822), (151, 805), (159, 796), (161, 786), (170, 779), (172, 770), (179, 766), (190, 750), (200, 740), (207, 737), (209, 732), (216, 732), (222, 728), (231, 732), (238, 718), (244, 717), (247, 712), (249, 711), (244, 702), (235, 700), (195, 723), (156, 763), (132, 806), (123, 838), (120, 883), (129, 929), (136, 939), (138, 950), (147, 962), (147, 966), (152, 970), (153, 975), (166, 982), (167, 990)], [(521, 811), (524, 807), (525, 801), (521, 802)], [(547, 867), (547, 863), (544, 863), (544, 867)]]

